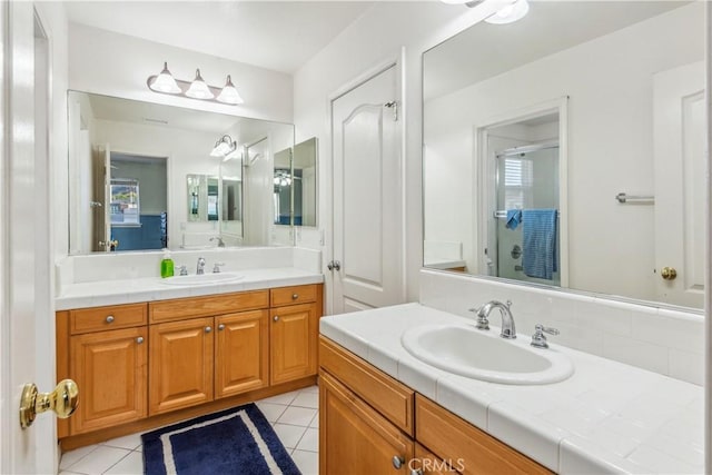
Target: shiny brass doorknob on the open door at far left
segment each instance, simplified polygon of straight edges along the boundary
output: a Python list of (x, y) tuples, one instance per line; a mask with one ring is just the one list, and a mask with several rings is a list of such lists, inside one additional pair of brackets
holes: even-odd
[(53, 410), (57, 417), (66, 419), (79, 405), (79, 387), (71, 379), (61, 380), (51, 393), (38, 393), (37, 385), (26, 384), (20, 398), (20, 427), (28, 428), (34, 417), (46, 410)]

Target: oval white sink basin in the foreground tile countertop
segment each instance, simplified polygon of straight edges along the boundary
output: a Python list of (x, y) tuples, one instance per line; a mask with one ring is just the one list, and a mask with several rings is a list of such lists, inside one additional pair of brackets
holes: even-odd
[(555, 349), (533, 348), (528, 337), (504, 339), (468, 325), (423, 325), (406, 330), (403, 347), (417, 359), (461, 376), (513, 384), (558, 383), (574, 373)]

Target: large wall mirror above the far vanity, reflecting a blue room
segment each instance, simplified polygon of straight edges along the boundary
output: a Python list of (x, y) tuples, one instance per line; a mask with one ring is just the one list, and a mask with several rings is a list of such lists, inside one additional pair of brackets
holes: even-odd
[(77, 91), (68, 107), (69, 254), (291, 244), (270, 216), (293, 125)]

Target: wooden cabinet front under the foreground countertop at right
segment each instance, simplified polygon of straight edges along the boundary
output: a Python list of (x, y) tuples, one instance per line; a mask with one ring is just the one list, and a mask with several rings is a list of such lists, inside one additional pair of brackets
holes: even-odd
[[(322, 475), (398, 473), (402, 453), (408, 474), (552, 473), (324, 337), (319, 367)], [(364, 469), (369, 458), (379, 462)]]

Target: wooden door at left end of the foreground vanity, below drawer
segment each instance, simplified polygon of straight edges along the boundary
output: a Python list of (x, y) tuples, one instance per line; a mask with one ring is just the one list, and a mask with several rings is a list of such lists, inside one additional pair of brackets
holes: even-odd
[[(319, 379), (319, 474), (411, 474), (413, 441), (326, 373)], [(396, 468), (396, 463), (399, 468)]]

